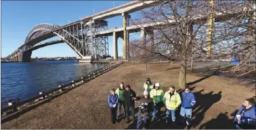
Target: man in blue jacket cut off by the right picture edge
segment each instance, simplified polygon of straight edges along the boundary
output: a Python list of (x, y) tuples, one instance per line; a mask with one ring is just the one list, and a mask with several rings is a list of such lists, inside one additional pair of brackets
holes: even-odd
[(234, 117), (234, 124), (238, 129), (255, 129), (256, 109), (254, 98), (247, 98)]

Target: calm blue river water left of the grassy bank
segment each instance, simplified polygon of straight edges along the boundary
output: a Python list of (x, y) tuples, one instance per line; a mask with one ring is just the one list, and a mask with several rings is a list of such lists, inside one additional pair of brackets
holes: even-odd
[(1, 101), (25, 100), (39, 92), (58, 88), (58, 85), (81, 79), (103, 64), (76, 61), (34, 61), (1, 63)]

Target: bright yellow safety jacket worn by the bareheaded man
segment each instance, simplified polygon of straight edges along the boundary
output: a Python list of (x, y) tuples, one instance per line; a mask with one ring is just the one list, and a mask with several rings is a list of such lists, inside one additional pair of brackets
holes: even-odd
[(174, 94), (170, 95), (170, 92), (165, 92), (165, 96), (163, 97), (163, 101), (166, 105), (166, 109), (168, 110), (177, 110), (179, 105), (181, 104), (181, 99), (179, 93), (176, 91)]

